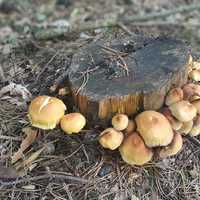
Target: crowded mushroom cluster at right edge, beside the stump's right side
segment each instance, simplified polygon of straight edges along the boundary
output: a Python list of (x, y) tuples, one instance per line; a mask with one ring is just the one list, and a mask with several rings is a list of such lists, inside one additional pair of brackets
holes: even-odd
[(188, 83), (183, 88), (173, 88), (165, 104), (161, 112), (174, 131), (190, 136), (200, 134), (200, 85)]

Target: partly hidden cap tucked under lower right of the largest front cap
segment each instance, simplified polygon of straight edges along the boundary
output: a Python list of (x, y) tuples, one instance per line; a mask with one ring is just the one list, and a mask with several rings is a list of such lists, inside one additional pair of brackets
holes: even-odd
[(182, 146), (183, 146), (183, 139), (182, 139), (181, 134), (174, 133), (172, 142), (168, 146), (161, 148), (159, 152), (159, 156), (161, 158), (173, 156), (182, 149)]

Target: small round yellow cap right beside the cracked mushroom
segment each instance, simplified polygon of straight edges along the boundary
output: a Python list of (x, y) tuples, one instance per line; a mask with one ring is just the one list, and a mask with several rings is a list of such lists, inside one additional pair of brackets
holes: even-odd
[(80, 132), (85, 124), (86, 119), (81, 113), (69, 113), (60, 120), (61, 129), (68, 134)]

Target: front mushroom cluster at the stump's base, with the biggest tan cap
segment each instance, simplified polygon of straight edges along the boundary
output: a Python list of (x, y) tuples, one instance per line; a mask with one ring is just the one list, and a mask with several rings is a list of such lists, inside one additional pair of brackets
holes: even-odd
[(140, 113), (135, 120), (116, 114), (112, 126), (100, 134), (99, 143), (110, 150), (119, 148), (122, 159), (130, 165), (144, 165), (154, 152), (163, 158), (182, 148), (182, 136), (173, 131), (163, 114), (153, 110)]

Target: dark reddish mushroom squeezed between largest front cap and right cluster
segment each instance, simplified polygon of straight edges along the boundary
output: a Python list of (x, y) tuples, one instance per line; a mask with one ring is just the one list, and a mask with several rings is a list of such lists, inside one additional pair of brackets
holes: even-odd
[(172, 113), (171, 111), (169, 110), (169, 108), (164, 108), (162, 110), (162, 114), (168, 119), (168, 121), (170, 122), (171, 126), (172, 126), (172, 129), (173, 130), (179, 130), (182, 125), (183, 125), (183, 122), (180, 122), (178, 121), (177, 119), (175, 119), (173, 116), (172, 116)]

